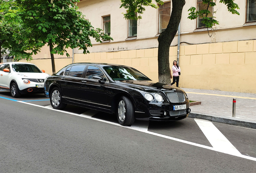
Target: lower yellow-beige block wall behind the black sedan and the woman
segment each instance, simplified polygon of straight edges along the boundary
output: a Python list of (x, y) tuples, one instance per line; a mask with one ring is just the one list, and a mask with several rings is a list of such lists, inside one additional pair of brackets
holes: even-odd
[[(133, 66), (158, 81), (157, 48), (75, 54), (74, 62)], [(177, 60), (177, 46), (169, 61)], [(256, 93), (256, 40), (180, 46), (180, 87)]]

